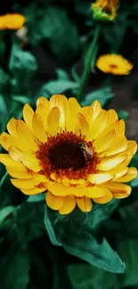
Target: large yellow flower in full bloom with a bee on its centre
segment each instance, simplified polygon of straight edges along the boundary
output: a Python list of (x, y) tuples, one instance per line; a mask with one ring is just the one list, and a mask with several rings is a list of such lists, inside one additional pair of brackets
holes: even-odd
[(61, 214), (76, 205), (90, 212), (93, 202), (128, 197), (131, 187), (123, 182), (137, 175), (128, 168), (137, 150), (126, 140), (125, 123), (115, 110), (100, 102), (81, 108), (75, 98), (55, 94), (37, 100), (37, 109), (26, 104), (22, 120), (12, 118), (0, 143), (8, 154), (0, 161), (12, 176), (12, 184), (26, 195), (46, 192), (46, 203)]

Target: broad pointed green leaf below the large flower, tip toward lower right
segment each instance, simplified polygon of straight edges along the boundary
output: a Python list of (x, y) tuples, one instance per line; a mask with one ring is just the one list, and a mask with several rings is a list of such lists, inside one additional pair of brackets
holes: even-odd
[(124, 272), (125, 264), (106, 239), (98, 244), (90, 233), (77, 231), (76, 235), (61, 237), (61, 243), (67, 253), (75, 255), (93, 266), (113, 273)]

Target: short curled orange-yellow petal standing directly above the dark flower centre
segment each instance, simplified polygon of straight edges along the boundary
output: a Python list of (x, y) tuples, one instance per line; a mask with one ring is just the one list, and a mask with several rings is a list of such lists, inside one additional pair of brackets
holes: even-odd
[(89, 124), (87, 123), (85, 116), (78, 113), (76, 117), (76, 125), (74, 132), (76, 133), (82, 133), (83, 135), (87, 135), (89, 131)]

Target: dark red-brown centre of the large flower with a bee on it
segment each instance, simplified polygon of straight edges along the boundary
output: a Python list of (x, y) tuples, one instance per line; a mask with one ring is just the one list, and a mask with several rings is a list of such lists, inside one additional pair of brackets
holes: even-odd
[[(85, 149), (86, 148), (86, 149)], [(99, 164), (93, 143), (85, 141), (81, 133), (61, 132), (41, 143), (36, 153), (41, 171), (50, 178), (52, 173), (69, 179), (85, 179), (89, 173), (96, 172)]]

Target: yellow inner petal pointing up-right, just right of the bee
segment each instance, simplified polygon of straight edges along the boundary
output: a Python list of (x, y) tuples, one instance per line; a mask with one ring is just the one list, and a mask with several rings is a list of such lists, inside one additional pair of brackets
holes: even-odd
[(99, 136), (93, 141), (93, 147), (97, 153), (101, 153), (103, 150), (108, 149), (115, 140), (116, 132), (111, 130), (110, 132), (105, 133), (102, 137)]

